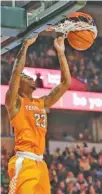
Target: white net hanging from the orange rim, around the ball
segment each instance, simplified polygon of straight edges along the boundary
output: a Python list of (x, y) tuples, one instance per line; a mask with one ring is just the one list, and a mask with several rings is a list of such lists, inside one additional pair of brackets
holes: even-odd
[(66, 38), (69, 32), (74, 32), (74, 31), (82, 31), (82, 30), (90, 30), (94, 32), (94, 38), (97, 37), (97, 27), (90, 25), (86, 22), (83, 21), (69, 21), (66, 20), (64, 23), (60, 23), (56, 26), (53, 27), (55, 32), (60, 32), (64, 34), (64, 37)]

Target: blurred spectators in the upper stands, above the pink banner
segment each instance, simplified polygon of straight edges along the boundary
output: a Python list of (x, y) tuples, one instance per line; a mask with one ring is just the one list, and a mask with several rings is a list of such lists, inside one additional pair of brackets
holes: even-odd
[[(28, 50), (26, 66), (59, 69), (59, 61), (53, 45), (54, 38), (39, 36)], [(66, 57), (72, 77), (88, 83), (89, 91), (102, 92), (102, 38), (97, 38), (86, 51), (76, 51), (65, 40)], [(1, 83), (8, 84), (15, 57), (20, 47), (2, 55)]]

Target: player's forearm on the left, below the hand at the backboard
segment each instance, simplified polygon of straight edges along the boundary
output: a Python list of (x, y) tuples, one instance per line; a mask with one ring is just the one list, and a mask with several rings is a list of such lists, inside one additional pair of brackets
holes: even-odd
[(22, 70), (24, 69), (25, 62), (26, 62), (27, 49), (28, 49), (28, 46), (24, 43), (15, 59), (13, 72), (17, 71), (21, 73)]

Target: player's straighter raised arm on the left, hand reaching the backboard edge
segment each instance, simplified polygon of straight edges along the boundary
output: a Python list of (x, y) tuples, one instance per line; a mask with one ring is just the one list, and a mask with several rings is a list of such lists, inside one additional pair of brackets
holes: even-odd
[(26, 53), (28, 47), (33, 44), (38, 36), (26, 40), (22, 48), (20, 49), (15, 62), (14, 62), (14, 67), (12, 71), (12, 75), (10, 78), (10, 84), (9, 84), (9, 89), (6, 93), (6, 99), (5, 99), (5, 104), (7, 105), (8, 108), (12, 108), (15, 100), (17, 99), (18, 96), (18, 89), (19, 89), (19, 84), (20, 84), (20, 75), (24, 69), (25, 62), (26, 62)]

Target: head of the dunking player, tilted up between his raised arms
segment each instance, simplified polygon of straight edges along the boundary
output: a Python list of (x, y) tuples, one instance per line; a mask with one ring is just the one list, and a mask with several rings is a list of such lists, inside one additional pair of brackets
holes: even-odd
[(23, 94), (32, 93), (36, 89), (35, 81), (32, 77), (26, 75), (25, 73), (21, 73), (20, 86), (19, 91)]

